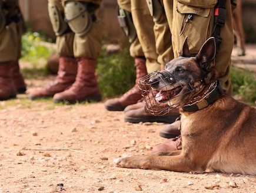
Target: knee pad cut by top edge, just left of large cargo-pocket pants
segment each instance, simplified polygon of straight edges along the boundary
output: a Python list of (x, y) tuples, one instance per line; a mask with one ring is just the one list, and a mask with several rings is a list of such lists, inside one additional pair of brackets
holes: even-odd
[(147, 0), (148, 9), (150, 15), (153, 17), (154, 22), (158, 22), (164, 13), (164, 8), (161, 5), (161, 2), (156, 0)]

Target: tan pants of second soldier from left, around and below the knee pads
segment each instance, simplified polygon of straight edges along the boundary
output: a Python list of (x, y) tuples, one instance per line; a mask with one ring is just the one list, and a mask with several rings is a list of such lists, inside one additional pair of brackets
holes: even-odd
[[(55, 5), (60, 12), (64, 12), (64, 7), (62, 6), (63, 4), (60, 4), (60, 0), (48, 0), (48, 2)], [(101, 0), (84, 0), (84, 2), (92, 2), (99, 5)], [(91, 30), (83, 36), (78, 36), (73, 32), (58, 36), (56, 38), (56, 52), (59, 54), (59, 56), (87, 57), (89, 59), (97, 59), (101, 53), (101, 28), (101, 22), (97, 20), (92, 23)]]

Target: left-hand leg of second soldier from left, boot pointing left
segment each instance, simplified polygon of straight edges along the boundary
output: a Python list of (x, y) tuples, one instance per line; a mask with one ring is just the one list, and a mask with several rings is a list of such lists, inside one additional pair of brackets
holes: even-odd
[(43, 89), (35, 89), (29, 93), (31, 100), (53, 97), (54, 94), (68, 89), (77, 76), (77, 60), (74, 57), (74, 33), (64, 21), (64, 8), (61, 1), (49, 0), (48, 11), (52, 27), (56, 35), (56, 52), (59, 55), (58, 75), (53, 83)]

